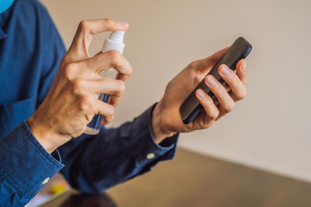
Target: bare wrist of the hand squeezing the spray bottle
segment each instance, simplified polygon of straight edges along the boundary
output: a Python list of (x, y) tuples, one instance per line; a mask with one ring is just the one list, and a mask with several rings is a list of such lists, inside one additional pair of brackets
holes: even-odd
[(59, 141), (57, 141), (56, 135), (51, 133), (47, 127), (44, 127), (39, 121), (36, 120), (35, 115), (32, 115), (26, 123), (33, 136), (49, 154), (62, 145), (61, 143), (58, 143)]

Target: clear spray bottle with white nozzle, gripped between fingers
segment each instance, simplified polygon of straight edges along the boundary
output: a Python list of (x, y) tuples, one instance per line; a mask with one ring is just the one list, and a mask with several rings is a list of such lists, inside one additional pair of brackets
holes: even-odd
[[(125, 31), (113, 31), (111, 32), (110, 36), (105, 39), (104, 44), (101, 48), (101, 52), (105, 53), (109, 50), (118, 50), (121, 54), (124, 49), (124, 43), (123, 43), (123, 38), (124, 38), (124, 33)], [(101, 72), (98, 73), (99, 76), (105, 77), (105, 78), (111, 78), (111, 79), (116, 79), (118, 74), (118, 71), (116, 69), (107, 69), (107, 70), (102, 70)], [(108, 103), (110, 99), (109, 94), (97, 94), (98, 99)], [(90, 123), (86, 125), (86, 129), (84, 131), (84, 134), (87, 135), (97, 135), (99, 133), (101, 123), (103, 121), (103, 117), (100, 116), (99, 114), (95, 115)]]

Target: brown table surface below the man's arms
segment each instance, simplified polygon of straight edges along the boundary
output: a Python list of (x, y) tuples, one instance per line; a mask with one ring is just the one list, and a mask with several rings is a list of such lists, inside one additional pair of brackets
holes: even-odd
[(311, 207), (311, 183), (178, 149), (106, 193), (70, 190), (42, 207)]

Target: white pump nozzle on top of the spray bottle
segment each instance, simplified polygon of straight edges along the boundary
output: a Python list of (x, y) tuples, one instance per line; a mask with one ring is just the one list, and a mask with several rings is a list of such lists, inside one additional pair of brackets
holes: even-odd
[(104, 53), (109, 50), (118, 50), (122, 54), (125, 46), (123, 43), (124, 33), (125, 31), (121, 30), (111, 32), (109, 38), (105, 39), (101, 52)]

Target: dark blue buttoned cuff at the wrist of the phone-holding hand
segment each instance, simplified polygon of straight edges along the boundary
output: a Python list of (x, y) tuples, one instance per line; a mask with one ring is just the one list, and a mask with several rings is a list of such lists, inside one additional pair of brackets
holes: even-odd
[(135, 147), (132, 154), (135, 156), (139, 164), (150, 161), (160, 161), (172, 159), (176, 152), (176, 144), (179, 134), (170, 138), (165, 138), (161, 143), (157, 144), (152, 135), (151, 118), (152, 112), (156, 104), (147, 109), (142, 115), (133, 121), (133, 143)]

